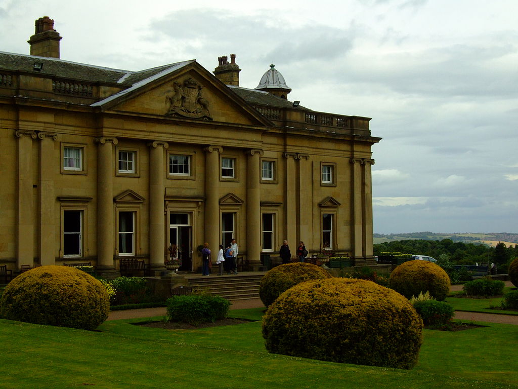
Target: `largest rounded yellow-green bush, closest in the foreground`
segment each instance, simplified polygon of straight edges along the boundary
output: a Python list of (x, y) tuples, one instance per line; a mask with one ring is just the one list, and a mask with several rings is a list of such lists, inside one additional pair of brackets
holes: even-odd
[(394, 290), (358, 279), (307, 281), (286, 290), (263, 317), (270, 353), (411, 369), (423, 322)]

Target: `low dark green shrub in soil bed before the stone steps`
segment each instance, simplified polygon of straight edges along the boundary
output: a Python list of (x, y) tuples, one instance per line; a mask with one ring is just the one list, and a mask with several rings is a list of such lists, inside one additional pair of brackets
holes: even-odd
[(228, 316), (230, 301), (219, 296), (182, 295), (167, 299), (167, 320), (192, 325), (224, 319)]

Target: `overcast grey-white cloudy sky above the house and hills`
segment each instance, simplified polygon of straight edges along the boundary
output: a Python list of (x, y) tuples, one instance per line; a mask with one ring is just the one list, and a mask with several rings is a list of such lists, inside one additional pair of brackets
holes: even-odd
[(0, 0), (0, 51), (123, 70), (235, 53), (313, 110), (372, 118), (374, 231), (518, 232), (516, 0)]

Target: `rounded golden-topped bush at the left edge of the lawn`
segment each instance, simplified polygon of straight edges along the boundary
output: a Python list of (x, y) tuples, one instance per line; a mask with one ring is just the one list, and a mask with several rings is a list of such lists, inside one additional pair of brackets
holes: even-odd
[(24, 272), (5, 288), (0, 315), (9, 320), (93, 330), (110, 311), (106, 288), (84, 271), (41, 266)]

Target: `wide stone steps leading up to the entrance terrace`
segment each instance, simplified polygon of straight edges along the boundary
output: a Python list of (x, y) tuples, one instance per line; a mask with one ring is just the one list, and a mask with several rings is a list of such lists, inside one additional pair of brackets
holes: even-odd
[[(264, 273), (263, 273), (264, 274)], [(227, 300), (259, 298), (259, 284), (263, 274), (215, 275), (189, 277), (189, 286), (195, 291), (205, 291)]]

